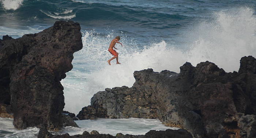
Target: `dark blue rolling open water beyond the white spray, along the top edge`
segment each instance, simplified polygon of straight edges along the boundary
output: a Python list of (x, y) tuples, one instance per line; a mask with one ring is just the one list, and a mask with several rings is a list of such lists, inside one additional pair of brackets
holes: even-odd
[(6, 1), (1, 0), (2, 27), (42, 29), (56, 20), (71, 19), (83, 28), (97, 28), (102, 35), (108, 35), (106, 28), (124, 32), (143, 44), (179, 41), (177, 35), (197, 20), (212, 20), (212, 13), (223, 9), (255, 9), (256, 4), (255, 0), (16, 0), (12, 4)]

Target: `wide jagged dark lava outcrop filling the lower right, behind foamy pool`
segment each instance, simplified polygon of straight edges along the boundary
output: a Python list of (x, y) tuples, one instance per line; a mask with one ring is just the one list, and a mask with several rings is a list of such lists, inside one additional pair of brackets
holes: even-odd
[[(238, 72), (226, 73), (212, 62), (186, 62), (180, 73), (135, 71), (135, 83), (94, 94), (79, 119), (158, 118), (196, 138), (254, 137), (256, 59), (242, 57)], [(246, 123), (248, 122), (248, 123)], [(252, 122), (252, 123), (249, 123)]]

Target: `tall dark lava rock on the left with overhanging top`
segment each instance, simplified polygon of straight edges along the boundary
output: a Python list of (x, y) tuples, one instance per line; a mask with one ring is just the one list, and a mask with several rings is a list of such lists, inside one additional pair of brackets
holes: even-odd
[(9, 105), (16, 129), (30, 126), (57, 131), (64, 108), (60, 80), (82, 49), (79, 23), (56, 21), (42, 32), (0, 41), (0, 103)]

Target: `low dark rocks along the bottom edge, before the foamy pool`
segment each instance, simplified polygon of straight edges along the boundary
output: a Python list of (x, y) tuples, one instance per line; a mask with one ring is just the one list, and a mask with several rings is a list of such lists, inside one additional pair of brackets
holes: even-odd
[(187, 130), (171, 130), (167, 129), (165, 131), (155, 131), (150, 130), (145, 135), (123, 135), (122, 133), (116, 134), (116, 137), (110, 134), (99, 134), (97, 131), (93, 130), (91, 133), (84, 131), (82, 135), (52, 135), (45, 128), (39, 130), (37, 138), (192, 138), (192, 135), (188, 133)]

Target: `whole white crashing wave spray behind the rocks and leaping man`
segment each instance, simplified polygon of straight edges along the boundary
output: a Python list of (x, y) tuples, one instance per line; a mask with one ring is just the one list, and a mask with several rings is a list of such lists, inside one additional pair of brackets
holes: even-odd
[[(201, 21), (184, 32), (189, 38), (189, 50), (177, 49), (184, 45), (170, 45), (165, 41), (145, 45), (143, 49), (136, 41), (122, 36), (117, 44), (119, 61), (106, 62), (112, 55), (108, 52), (109, 42), (117, 35), (95, 35), (96, 31), (85, 31), (83, 49), (74, 54), (74, 69), (67, 73), (61, 83), (64, 86), (65, 108), (77, 114), (82, 107), (90, 105), (93, 94), (105, 88), (131, 87), (135, 82), (133, 72), (153, 68), (155, 72), (170, 70), (179, 73), (186, 61), (193, 66), (206, 60), (214, 62), (226, 72), (238, 70), (240, 58), (256, 57), (256, 17), (250, 8), (230, 9), (214, 14), (214, 21)], [(121, 34), (122, 35), (122, 34)]]

